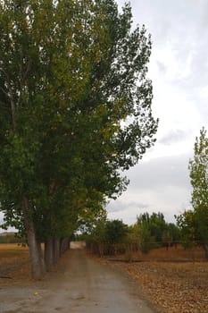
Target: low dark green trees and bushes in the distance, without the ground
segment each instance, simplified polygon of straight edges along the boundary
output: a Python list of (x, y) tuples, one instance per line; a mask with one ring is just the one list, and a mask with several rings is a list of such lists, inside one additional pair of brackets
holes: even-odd
[(121, 220), (111, 221), (104, 217), (81, 237), (98, 244), (135, 244), (143, 252), (161, 246), (169, 247), (181, 240), (179, 227), (167, 223), (160, 212), (141, 214), (137, 216), (137, 223), (130, 226)]

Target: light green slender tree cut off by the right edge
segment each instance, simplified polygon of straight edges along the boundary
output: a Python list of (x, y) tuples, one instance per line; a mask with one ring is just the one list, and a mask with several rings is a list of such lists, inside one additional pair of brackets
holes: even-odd
[[(196, 241), (204, 250), (208, 246), (208, 138), (203, 128), (196, 137), (195, 155), (189, 161), (190, 180), (193, 187), (191, 203), (193, 210), (177, 216), (185, 244)], [(207, 253), (207, 252), (206, 252)], [(208, 256), (208, 254), (207, 254)]]

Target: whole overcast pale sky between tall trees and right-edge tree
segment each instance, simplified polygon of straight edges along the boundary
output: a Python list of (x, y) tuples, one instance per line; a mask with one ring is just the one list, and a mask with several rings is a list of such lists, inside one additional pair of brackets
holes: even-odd
[(175, 214), (190, 207), (188, 160), (200, 129), (208, 131), (208, 1), (130, 3), (134, 25), (145, 24), (152, 35), (148, 77), (160, 124), (154, 148), (129, 170), (128, 190), (110, 202), (108, 216), (133, 224), (142, 212), (161, 211), (174, 222)]

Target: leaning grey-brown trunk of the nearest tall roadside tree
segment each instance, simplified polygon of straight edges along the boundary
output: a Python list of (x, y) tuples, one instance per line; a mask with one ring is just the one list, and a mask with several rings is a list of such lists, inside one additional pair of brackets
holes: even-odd
[(29, 201), (26, 198), (23, 199), (22, 213), (29, 244), (31, 276), (34, 279), (40, 279), (45, 273), (45, 266), (43, 258), (41, 258), (40, 243), (37, 242), (36, 238), (35, 225), (32, 218), (29, 216)]

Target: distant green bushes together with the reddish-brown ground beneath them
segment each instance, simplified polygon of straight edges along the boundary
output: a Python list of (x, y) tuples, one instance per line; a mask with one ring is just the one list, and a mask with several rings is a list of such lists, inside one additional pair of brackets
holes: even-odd
[(87, 242), (87, 249), (104, 258), (121, 261), (202, 261), (206, 251), (201, 241), (184, 238), (178, 224), (165, 222), (162, 213), (137, 216), (134, 225), (121, 220), (100, 221), (88, 233), (76, 236)]

